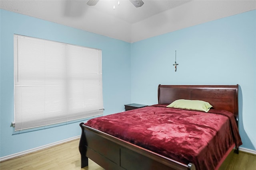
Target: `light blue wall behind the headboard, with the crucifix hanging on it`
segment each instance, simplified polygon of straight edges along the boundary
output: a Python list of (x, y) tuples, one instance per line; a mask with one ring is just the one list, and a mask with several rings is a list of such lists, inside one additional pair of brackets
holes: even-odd
[(158, 84), (239, 84), (241, 147), (256, 150), (256, 10), (138, 41), (131, 49), (134, 103), (156, 104)]

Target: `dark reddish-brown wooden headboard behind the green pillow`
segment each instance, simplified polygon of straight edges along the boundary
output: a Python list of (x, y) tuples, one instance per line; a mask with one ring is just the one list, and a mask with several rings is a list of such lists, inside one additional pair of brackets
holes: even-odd
[(204, 100), (214, 109), (230, 111), (238, 117), (237, 85), (158, 85), (158, 104), (178, 99)]

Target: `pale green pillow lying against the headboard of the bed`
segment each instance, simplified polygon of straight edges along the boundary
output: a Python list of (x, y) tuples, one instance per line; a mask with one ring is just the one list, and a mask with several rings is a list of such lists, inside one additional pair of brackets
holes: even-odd
[(199, 110), (199, 111), (208, 112), (212, 107), (212, 105), (202, 100), (179, 99), (179, 100), (175, 100), (174, 102), (172, 102), (166, 107), (174, 107), (174, 108), (180, 108), (180, 109), (190, 109), (190, 110)]

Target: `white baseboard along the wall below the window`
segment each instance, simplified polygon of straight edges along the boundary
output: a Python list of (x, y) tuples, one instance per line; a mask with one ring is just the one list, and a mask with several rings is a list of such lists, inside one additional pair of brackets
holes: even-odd
[(32, 153), (32, 152), (36, 152), (36, 151), (38, 151), (38, 150), (43, 150), (43, 149), (47, 149), (47, 148), (50, 148), (50, 147), (54, 147), (54, 146), (60, 145), (60, 144), (62, 144), (62, 143), (74, 141), (74, 140), (79, 139), (79, 138), (80, 138), (80, 135), (79, 135), (79, 136), (76, 136), (76, 137), (71, 137), (71, 138), (68, 138), (68, 139), (64, 139), (64, 140), (62, 140), (62, 141), (50, 143), (50, 144), (48, 144), (48, 145), (44, 145), (44, 146), (41, 146), (41, 147), (37, 147), (37, 148), (25, 150), (25, 151), (18, 152), (18, 153), (15, 153), (15, 154), (11, 154), (11, 155), (8, 155), (8, 156), (3, 156), (3, 157), (0, 158), (0, 162), (2, 162), (2, 161), (4, 161), (4, 160), (16, 158), (16, 157), (19, 157), (19, 156), (23, 156), (23, 155), (25, 155), (25, 154), (29, 154), (29, 153)]

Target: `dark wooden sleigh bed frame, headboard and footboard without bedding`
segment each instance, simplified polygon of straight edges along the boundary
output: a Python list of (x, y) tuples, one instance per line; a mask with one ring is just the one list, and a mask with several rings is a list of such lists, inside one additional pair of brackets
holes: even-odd
[[(159, 85), (158, 105), (170, 104), (178, 99), (203, 100), (209, 102), (214, 110), (225, 110), (234, 115), (237, 128), (238, 123), (238, 85)], [(148, 108), (153, 107), (149, 106)], [(146, 109), (146, 108), (144, 108)], [(162, 109), (162, 108), (159, 108)], [(163, 108), (164, 109), (164, 108)], [(142, 109), (136, 109), (142, 112)], [(136, 114), (133, 110), (118, 114)], [(202, 113), (198, 113), (202, 114)], [(210, 114), (210, 113), (204, 113)], [(114, 114), (113, 114), (114, 115)], [(134, 115), (135, 116), (135, 115)], [(230, 125), (231, 126), (231, 125)], [(88, 158), (106, 170), (195, 170), (195, 162), (182, 162), (170, 155), (160, 154), (142, 146), (135, 145), (97, 128), (80, 123), (82, 135), (79, 151), (81, 154), (81, 167), (88, 166)], [(233, 129), (234, 126), (231, 126)], [(128, 131), (128, 130), (127, 130)], [(240, 136), (239, 136), (240, 138)], [(240, 142), (239, 145), (242, 145)], [(218, 169), (228, 154), (232, 152), (235, 144), (225, 150), (218, 160), (215, 169)], [(236, 146), (236, 153), (238, 153)], [(217, 150), (218, 148), (216, 148)], [(207, 150), (206, 150), (207, 151)], [(207, 162), (208, 160), (206, 160)], [(200, 161), (199, 163), (200, 164)], [(200, 168), (197, 168), (200, 169)]]

